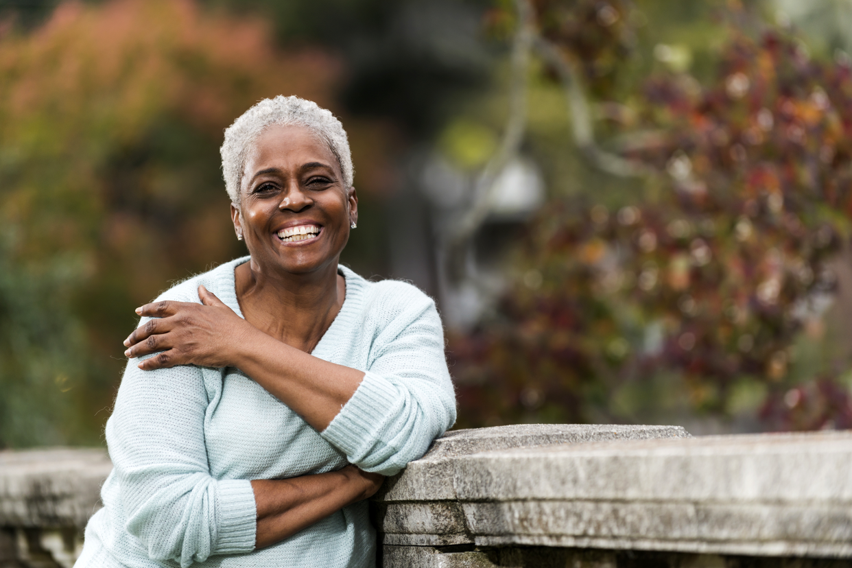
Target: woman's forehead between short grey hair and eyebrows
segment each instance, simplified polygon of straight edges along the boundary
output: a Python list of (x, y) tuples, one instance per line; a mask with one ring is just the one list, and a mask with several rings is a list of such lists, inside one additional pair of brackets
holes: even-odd
[(320, 136), (304, 126), (273, 124), (252, 144), (244, 174), (268, 168), (288, 170), (312, 162), (328, 164), (340, 175), (337, 158)]

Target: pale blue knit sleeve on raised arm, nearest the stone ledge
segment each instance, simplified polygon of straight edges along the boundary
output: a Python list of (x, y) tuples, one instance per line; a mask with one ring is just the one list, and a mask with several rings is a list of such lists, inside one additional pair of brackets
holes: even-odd
[(350, 463), (383, 475), (423, 456), (456, 421), (435, 302), (419, 291), (406, 300), (405, 311), (389, 326), (393, 336), (379, 336), (377, 357), (364, 380), (321, 433)]

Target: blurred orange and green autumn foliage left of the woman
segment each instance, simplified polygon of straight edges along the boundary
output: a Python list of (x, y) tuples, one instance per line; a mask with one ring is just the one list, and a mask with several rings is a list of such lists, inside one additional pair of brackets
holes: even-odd
[[(0, 38), (0, 447), (92, 443), (133, 308), (245, 254), (219, 169), (256, 100), (334, 106), (340, 67), (192, 2), (61, 4)], [(369, 192), (381, 131), (350, 128)], [(368, 138), (369, 145), (358, 144)], [(380, 182), (377, 182), (380, 183)]]

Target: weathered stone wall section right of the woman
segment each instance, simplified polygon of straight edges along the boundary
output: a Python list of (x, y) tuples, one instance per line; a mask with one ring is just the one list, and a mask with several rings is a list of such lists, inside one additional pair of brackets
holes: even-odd
[(383, 565), (849, 565), (852, 433), (567, 428), (588, 443), (413, 463), (377, 496)]

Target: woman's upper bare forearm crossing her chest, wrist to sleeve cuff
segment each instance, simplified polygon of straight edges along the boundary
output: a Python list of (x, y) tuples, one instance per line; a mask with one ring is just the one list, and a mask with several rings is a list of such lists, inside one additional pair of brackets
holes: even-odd
[(364, 379), (360, 370), (299, 351), (261, 331), (239, 341), (233, 364), (322, 432)]

